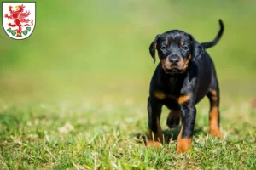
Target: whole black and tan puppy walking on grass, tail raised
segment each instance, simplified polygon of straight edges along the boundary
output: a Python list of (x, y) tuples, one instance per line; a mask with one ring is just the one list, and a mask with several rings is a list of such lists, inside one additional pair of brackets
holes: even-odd
[(219, 131), (219, 88), (216, 71), (209, 54), (204, 50), (215, 45), (224, 31), (221, 20), (220, 31), (212, 42), (199, 43), (190, 34), (166, 31), (155, 37), (149, 47), (155, 62), (155, 50), (160, 64), (157, 65), (150, 83), (148, 97), (148, 146), (160, 146), (163, 133), (160, 127), (161, 108), (170, 109), (168, 127), (182, 128), (177, 138), (177, 152), (182, 153), (191, 146), (195, 127), (195, 105), (207, 95), (210, 100), (210, 133), (221, 137)]

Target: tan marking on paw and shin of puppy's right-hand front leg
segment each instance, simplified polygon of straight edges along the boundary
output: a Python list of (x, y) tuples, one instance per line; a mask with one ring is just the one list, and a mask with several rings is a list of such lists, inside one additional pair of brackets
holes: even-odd
[(177, 137), (177, 153), (181, 154), (191, 149), (192, 138), (183, 138), (183, 126)]

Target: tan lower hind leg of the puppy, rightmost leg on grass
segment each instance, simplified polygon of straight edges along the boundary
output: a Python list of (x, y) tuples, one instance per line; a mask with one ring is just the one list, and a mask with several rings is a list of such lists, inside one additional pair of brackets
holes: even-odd
[(211, 108), (210, 115), (209, 115), (210, 134), (212, 134), (212, 136), (214, 137), (221, 138), (221, 133), (218, 127), (218, 116), (219, 116), (218, 107), (213, 106)]

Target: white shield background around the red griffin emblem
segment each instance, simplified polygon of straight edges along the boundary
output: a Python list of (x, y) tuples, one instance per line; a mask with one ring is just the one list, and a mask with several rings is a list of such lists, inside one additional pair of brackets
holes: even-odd
[[(13, 36), (9, 31), (7, 31), (7, 29), (9, 29), (10, 26), (8, 26), (9, 23), (14, 24), (14, 20), (13, 19), (8, 19), (8, 18), (4, 18), (5, 14), (10, 15), (9, 13), (9, 5), (11, 5), (13, 8), (12, 10), (16, 10), (15, 6), (18, 5), (24, 5), (24, 12), (26, 11), (30, 11), (30, 15), (28, 17), (26, 17), (27, 19), (33, 20), (33, 26), (29, 26), (31, 27), (31, 31), (28, 31), (28, 33), (26, 35), (22, 34), (22, 37), (16, 37), (17, 34), (15, 34), (15, 36)], [(30, 37), (32, 35), (32, 32), (36, 26), (36, 3), (3, 3), (2, 5), (3, 8), (3, 13), (2, 13), (2, 18), (3, 18), (3, 29), (6, 32), (7, 35), (9, 35), (9, 37), (12, 37), (14, 39), (25, 39), (26, 37)], [(25, 25), (25, 24), (31, 24), (31, 21), (29, 23), (21, 23), (21, 25)], [(11, 27), (12, 30), (16, 30), (18, 29), (18, 26), (15, 27)], [(22, 31), (26, 29), (26, 26), (22, 27)]]

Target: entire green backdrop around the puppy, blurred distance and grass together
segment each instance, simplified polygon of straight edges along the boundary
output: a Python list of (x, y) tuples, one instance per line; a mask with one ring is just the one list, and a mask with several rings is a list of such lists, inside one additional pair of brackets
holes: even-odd
[[(0, 169), (256, 169), (254, 1), (36, 2), (32, 37), (0, 31)], [(224, 36), (207, 51), (223, 139), (208, 135), (203, 99), (189, 153), (177, 155), (166, 108), (166, 144), (146, 148), (150, 42), (170, 29), (212, 40), (218, 18)]]

